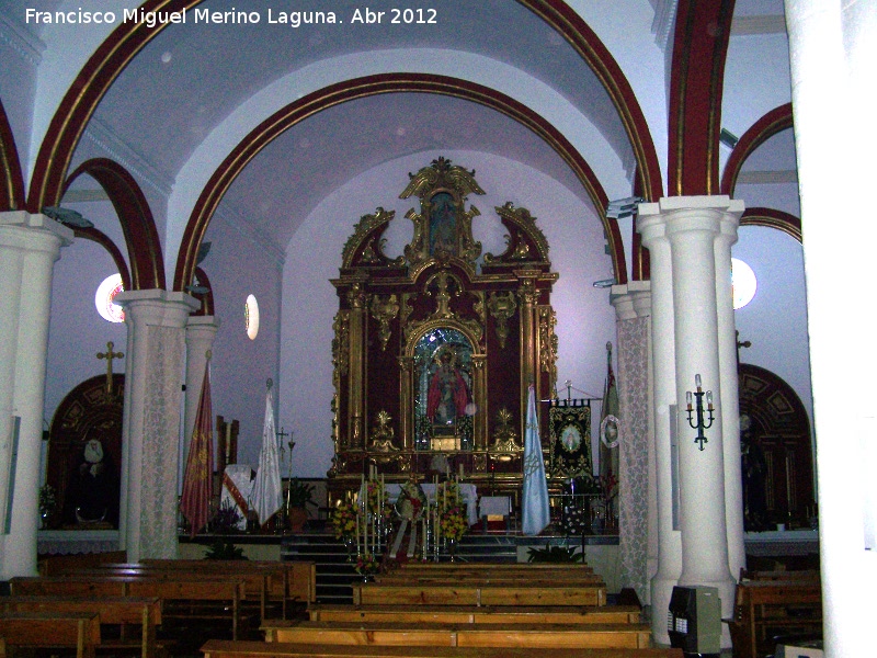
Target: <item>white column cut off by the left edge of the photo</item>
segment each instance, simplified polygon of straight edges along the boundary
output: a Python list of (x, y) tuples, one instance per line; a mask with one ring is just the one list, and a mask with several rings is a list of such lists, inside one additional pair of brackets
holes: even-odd
[[(73, 231), (44, 215), (0, 213), (0, 580), (36, 574), (52, 272), (72, 239)], [(21, 419), (14, 472), (13, 417)]]

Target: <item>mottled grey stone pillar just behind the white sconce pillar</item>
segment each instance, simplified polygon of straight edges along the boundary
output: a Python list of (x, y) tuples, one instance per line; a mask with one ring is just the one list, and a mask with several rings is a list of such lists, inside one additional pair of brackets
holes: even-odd
[[(651, 294), (648, 281), (612, 287), (617, 318), (619, 450), (619, 546), (622, 581), (648, 605), (650, 527), (654, 497), (650, 464), (654, 447), (651, 407)], [(657, 546), (657, 544), (656, 544)]]

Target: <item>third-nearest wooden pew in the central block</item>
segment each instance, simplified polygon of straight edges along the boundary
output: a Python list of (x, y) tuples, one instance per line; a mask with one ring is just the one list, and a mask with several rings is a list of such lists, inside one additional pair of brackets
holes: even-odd
[(637, 605), (348, 605), (308, 608), (314, 622), (419, 622), (443, 624), (635, 624)]

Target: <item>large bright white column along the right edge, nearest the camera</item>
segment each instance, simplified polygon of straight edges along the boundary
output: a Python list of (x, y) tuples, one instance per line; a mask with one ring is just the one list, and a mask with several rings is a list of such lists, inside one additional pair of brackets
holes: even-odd
[[(786, 0), (801, 200), (825, 656), (874, 654), (867, 601), (877, 551), (865, 497), (877, 443), (877, 343), (862, 288), (874, 280), (877, 1)], [(850, 314), (850, 309), (862, 309)]]

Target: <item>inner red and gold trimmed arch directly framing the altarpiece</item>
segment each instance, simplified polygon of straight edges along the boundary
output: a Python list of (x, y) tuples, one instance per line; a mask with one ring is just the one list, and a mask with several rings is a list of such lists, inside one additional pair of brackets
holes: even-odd
[(522, 103), (481, 84), (447, 76), (384, 73), (339, 82), (303, 97), (272, 114), (235, 147), (210, 177), (195, 203), (180, 245), (173, 290), (182, 291), (192, 282), (198, 247), (216, 207), (232, 181), (259, 151), (295, 124), (322, 110), (363, 97), (395, 92), (441, 93), (480, 103), (517, 121), (548, 143), (588, 191), (603, 220), (618, 283), (627, 282), (618, 224), (605, 216), (608, 197), (588, 162), (557, 128)]

